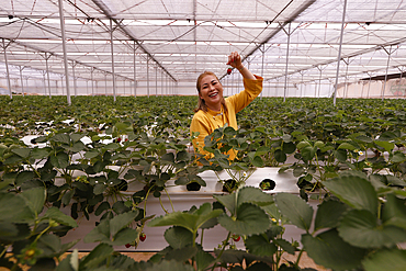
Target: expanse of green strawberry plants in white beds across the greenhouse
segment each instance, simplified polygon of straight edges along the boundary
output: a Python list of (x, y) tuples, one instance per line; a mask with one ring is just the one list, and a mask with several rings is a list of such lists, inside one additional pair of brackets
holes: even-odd
[[(404, 100), (257, 99), (238, 131), (207, 138), (206, 160), (189, 136), (194, 98), (64, 99), (0, 97), (4, 267), (282, 270), (281, 255), (296, 251), (335, 270), (406, 264)], [(160, 251), (147, 263), (120, 253), (143, 248)]]

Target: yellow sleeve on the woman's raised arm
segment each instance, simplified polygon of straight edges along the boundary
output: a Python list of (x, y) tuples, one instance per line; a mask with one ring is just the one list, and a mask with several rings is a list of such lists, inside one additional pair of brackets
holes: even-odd
[(227, 101), (233, 104), (236, 113), (245, 109), (261, 93), (263, 78), (259, 76), (255, 77), (257, 78), (256, 80), (244, 78), (244, 90), (227, 98)]

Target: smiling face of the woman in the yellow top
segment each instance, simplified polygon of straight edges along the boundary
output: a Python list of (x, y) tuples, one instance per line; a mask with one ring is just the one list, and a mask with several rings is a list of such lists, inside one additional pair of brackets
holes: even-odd
[(205, 101), (208, 109), (222, 110), (223, 86), (214, 75), (205, 75), (200, 80), (199, 97)]

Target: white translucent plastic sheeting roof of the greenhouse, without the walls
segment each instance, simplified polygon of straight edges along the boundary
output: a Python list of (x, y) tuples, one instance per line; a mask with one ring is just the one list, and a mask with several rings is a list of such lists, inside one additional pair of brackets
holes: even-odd
[[(5, 47), (12, 76), (19, 68), (41, 75), (46, 66), (63, 76), (58, 0), (0, 1), (0, 61)], [(115, 76), (125, 80), (134, 79), (135, 66), (136, 80), (157, 68), (173, 81), (194, 82), (206, 69), (225, 76), (227, 55), (237, 50), (269, 81), (284, 80), (286, 67), (290, 83), (336, 78), (343, 0), (61, 2), (69, 76), (102, 80), (114, 60)], [(406, 2), (348, 1), (340, 80), (406, 70), (405, 41)]]

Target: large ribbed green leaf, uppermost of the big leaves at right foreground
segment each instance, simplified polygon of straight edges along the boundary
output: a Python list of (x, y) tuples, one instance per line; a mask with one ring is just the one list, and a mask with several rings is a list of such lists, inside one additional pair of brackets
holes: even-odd
[(325, 187), (349, 206), (377, 213), (377, 195), (373, 185), (359, 172), (348, 171), (324, 182)]

